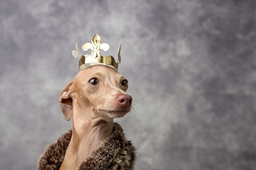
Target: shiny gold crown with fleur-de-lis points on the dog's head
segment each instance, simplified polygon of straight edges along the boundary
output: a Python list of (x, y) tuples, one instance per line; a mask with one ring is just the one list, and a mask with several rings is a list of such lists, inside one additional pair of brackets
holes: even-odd
[(98, 34), (95, 34), (92, 37), (92, 44), (87, 42), (83, 44), (83, 50), (87, 51), (88, 49), (91, 49), (91, 55), (86, 54), (86, 55), (81, 55), (80, 53), (80, 49), (77, 45), (76, 42), (76, 51), (73, 50), (72, 54), (75, 58), (80, 57), (79, 59), (79, 70), (83, 70), (85, 68), (88, 68), (92, 65), (96, 65), (96, 64), (104, 64), (107, 66), (112, 66), (114, 67), (116, 70), (118, 70), (118, 64), (121, 62), (121, 56), (120, 56), (120, 51), (121, 51), (121, 42), (119, 44), (119, 49), (118, 49), (118, 61), (115, 62), (114, 57), (112, 57), (111, 55), (109, 55), (108, 57), (103, 57), (99, 54), (99, 50), (103, 50), (103, 51), (108, 51), (109, 49), (109, 45), (106, 43), (102, 43), (101, 44), (101, 38)]

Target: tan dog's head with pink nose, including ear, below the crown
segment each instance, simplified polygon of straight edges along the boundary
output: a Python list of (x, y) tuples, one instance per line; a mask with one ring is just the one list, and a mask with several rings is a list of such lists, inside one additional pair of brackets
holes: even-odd
[(106, 119), (123, 117), (132, 104), (132, 97), (126, 94), (127, 89), (127, 79), (115, 68), (91, 66), (80, 71), (61, 91), (61, 110), (67, 120), (72, 111), (84, 117), (86, 114)]

